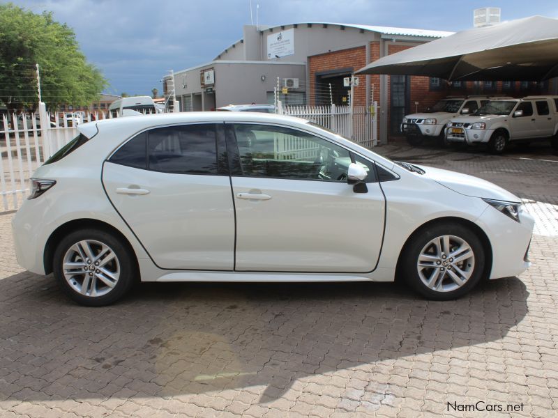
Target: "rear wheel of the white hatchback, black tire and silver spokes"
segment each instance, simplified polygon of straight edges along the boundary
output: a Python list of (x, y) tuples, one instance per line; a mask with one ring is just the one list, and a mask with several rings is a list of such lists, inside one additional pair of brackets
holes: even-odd
[[(114, 274), (114, 272), (119, 273), (114, 287), (111, 288), (110, 286), (105, 285), (102, 280), (98, 279), (98, 275), (96, 273), (105, 274), (104, 271), (96, 270), (96, 267), (94, 267), (94, 263), (89, 263), (89, 265), (86, 265), (86, 261), (82, 262), (82, 258), (79, 254), (77, 254), (77, 251), (72, 250), (72, 248), (77, 248), (74, 247), (74, 245), (85, 240), (91, 242), (91, 245), (89, 245), (89, 247), (93, 255), (100, 254), (100, 244), (105, 245), (114, 253), (115, 258), (112, 259), (112, 261), (109, 261), (105, 267), (105, 269), (107, 269), (105, 271), (108, 271), (112, 274)], [(96, 244), (95, 242), (97, 242), (98, 244)], [(70, 251), (73, 251), (71, 253), (73, 254), (73, 258), (70, 258), (71, 262), (86, 265), (86, 267), (90, 269), (93, 268), (93, 270), (86, 270), (86, 272), (81, 273), (80, 271), (75, 270), (77, 269), (75, 268), (73, 272), (77, 274), (74, 274), (72, 277), (70, 277), (68, 281), (66, 280), (63, 271), (63, 263), (64, 258), (67, 256), (67, 253), (70, 253)], [(85, 253), (82, 251), (82, 254)], [(99, 259), (100, 263), (103, 263), (103, 257)], [(66, 293), (66, 295), (68, 295), (78, 304), (82, 304), (87, 307), (103, 307), (105, 305), (116, 302), (116, 300), (119, 300), (130, 290), (135, 281), (135, 277), (138, 276), (137, 261), (135, 259), (135, 255), (133, 254), (133, 251), (129, 249), (128, 245), (122, 242), (119, 238), (116, 238), (112, 233), (100, 229), (81, 229), (73, 231), (72, 233), (66, 235), (66, 237), (61, 240), (58, 247), (56, 247), (56, 250), (54, 251), (52, 271), (54, 273), (56, 281), (58, 282), (64, 293)], [(95, 288), (98, 287), (98, 293), (101, 293), (101, 295), (86, 295), (77, 291), (78, 285), (81, 284), (80, 287), (83, 288), (86, 274), (89, 274), (91, 276), (89, 277), (89, 281), (87, 282), (88, 286), (86, 286), (86, 288), (91, 287), (91, 292), (96, 293), (97, 290), (93, 292), (93, 286), (95, 286)], [(105, 280), (107, 280), (105, 275), (103, 275), (103, 277), (105, 277)], [(70, 281), (72, 284), (70, 284)], [(110, 281), (112, 282), (112, 279)], [(99, 284), (99, 286), (96, 286), (97, 283)]]

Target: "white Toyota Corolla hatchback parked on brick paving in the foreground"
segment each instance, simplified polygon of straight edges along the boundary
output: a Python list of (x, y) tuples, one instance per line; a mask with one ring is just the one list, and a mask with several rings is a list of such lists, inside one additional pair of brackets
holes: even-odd
[(484, 180), (393, 162), (299, 118), (86, 123), (33, 175), (17, 260), (80, 304), (134, 281), (393, 281), (448, 300), (529, 266), (534, 220)]

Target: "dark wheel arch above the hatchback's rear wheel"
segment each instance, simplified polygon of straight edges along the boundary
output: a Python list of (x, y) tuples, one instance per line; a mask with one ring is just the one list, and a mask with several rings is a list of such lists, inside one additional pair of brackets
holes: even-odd
[(121, 231), (116, 229), (114, 226), (107, 224), (107, 222), (103, 222), (98, 219), (87, 219), (87, 218), (73, 219), (64, 224), (61, 224), (58, 228), (52, 231), (45, 245), (45, 250), (43, 251), (43, 266), (45, 268), (45, 274), (52, 273), (54, 251), (56, 251), (56, 245), (58, 245), (61, 238), (70, 232), (77, 231), (79, 229), (86, 229), (86, 228), (95, 228), (95, 229), (100, 229), (102, 231), (106, 231), (108, 233), (112, 233), (112, 235), (116, 236), (116, 238), (121, 240), (123, 245), (125, 245), (128, 248), (128, 251), (130, 251), (130, 254), (133, 254), (135, 259), (135, 268), (137, 269), (137, 273), (139, 275), (140, 269), (137, 263), (137, 254), (135, 253), (133, 246), (130, 244), (128, 238), (126, 238), (126, 236), (123, 233), (121, 233)]

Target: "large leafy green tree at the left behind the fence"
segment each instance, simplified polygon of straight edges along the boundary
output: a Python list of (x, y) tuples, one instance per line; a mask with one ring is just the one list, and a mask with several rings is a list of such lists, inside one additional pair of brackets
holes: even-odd
[(43, 102), (87, 105), (107, 86), (100, 70), (88, 63), (66, 24), (52, 13), (40, 15), (0, 4), (0, 102), (8, 109), (36, 109), (36, 67), (40, 68)]

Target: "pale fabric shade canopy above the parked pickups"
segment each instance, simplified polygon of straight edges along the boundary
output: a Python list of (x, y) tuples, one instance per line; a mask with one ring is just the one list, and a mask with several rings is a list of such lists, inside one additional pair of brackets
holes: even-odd
[(531, 16), (454, 33), (384, 56), (356, 74), (424, 75), (448, 81), (558, 77), (558, 20)]

